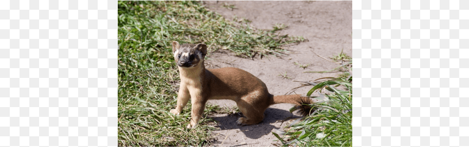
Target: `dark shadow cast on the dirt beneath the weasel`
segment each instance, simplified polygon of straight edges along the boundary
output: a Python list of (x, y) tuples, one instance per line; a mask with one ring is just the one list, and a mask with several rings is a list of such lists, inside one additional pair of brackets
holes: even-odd
[[(263, 135), (269, 134), (272, 129), (279, 129), (276, 126), (280, 126), (280, 124), (286, 123), (287, 120), (301, 118), (300, 116), (294, 115), (286, 110), (275, 109), (275, 108), (267, 108), (264, 112), (264, 120), (259, 124), (249, 125), (249, 126), (241, 126), (236, 125), (236, 120), (242, 117), (240, 115), (227, 115), (227, 116), (208, 116), (209, 118), (215, 120), (217, 125), (214, 126), (215, 128), (219, 128), (221, 130), (226, 129), (239, 129), (242, 131), (246, 137), (251, 139), (258, 139)], [(290, 118), (288, 118), (290, 117)], [(276, 123), (277, 122), (277, 123)], [(272, 125), (272, 124), (274, 124)], [(228, 135), (228, 134), (226, 134)]]

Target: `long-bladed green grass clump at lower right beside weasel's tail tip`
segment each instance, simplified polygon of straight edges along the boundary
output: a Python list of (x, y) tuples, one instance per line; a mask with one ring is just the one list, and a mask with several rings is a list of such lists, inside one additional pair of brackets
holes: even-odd
[(323, 77), (314, 82), (303, 82), (314, 86), (306, 95), (311, 96), (313, 92), (319, 92), (320, 96), (313, 98), (323, 102), (311, 105), (316, 111), (301, 121), (298, 120), (298, 123), (292, 123), (288, 131), (273, 130), (272, 133), (283, 146), (352, 146), (351, 64), (350, 61), (341, 66), (343, 73), (337, 77)]

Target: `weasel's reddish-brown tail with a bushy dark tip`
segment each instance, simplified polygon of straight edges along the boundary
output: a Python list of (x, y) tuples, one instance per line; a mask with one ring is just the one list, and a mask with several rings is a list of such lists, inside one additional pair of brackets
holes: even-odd
[[(313, 112), (311, 110), (310, 105), (303, 105), (303, 104), (313, 104), (313, 100), (308, 97), (301, 96), (300, 94), (294, 95), (276, 95), (274, 96), (274, 103), (273, 104), (280, 104), (280, 103), (290, 103), (297, 105), (298, 113), (307, 116)], [(272, 104), (272, 105), (273, 105)]]

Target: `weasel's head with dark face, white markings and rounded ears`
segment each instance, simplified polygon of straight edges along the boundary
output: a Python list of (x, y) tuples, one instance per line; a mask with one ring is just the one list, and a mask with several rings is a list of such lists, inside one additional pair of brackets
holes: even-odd
[(179, 42), (172, 41), (172, 53), (177, 66), (193, 68), (203, 63), (207, 55), (207, 45), (203, 43), (179, 45)]

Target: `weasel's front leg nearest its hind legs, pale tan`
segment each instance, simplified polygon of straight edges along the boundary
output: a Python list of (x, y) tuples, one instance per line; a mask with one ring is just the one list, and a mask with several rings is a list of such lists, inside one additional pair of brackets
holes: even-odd
[(192, 102), (192, 113), (191, 113), (191, 122), (189, 125), (187, 125), (187, 128), (195, 128), (197, 124), (199, 123), (200, 117), (202, 117), (202, 114), (204, 113), (205, 109), (205, 103), (207, 100), (205, 100), (204, 97), (202, 97), (200, 92), (193, 92), (191, 95), (191, 102)]

